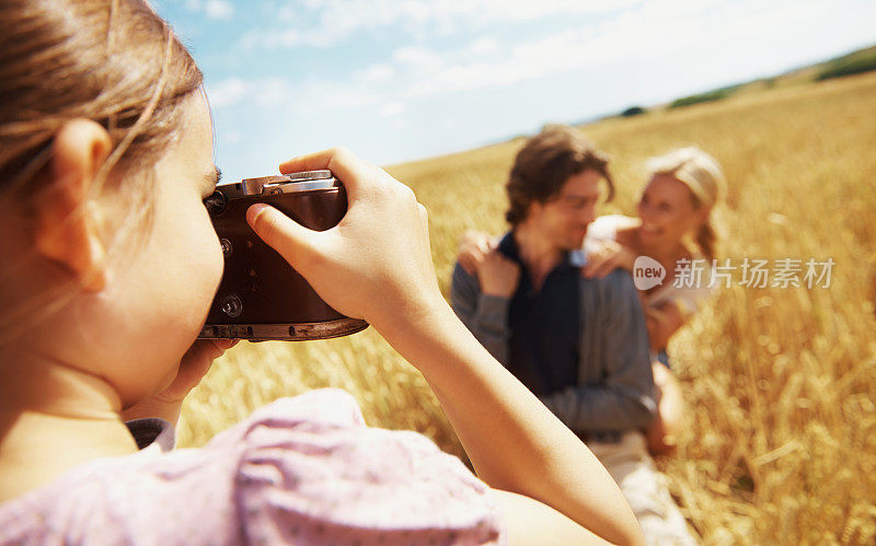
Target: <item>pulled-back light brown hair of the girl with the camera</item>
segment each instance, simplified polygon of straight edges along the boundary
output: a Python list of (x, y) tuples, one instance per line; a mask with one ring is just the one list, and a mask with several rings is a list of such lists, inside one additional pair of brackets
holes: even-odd
[[(50, 181), (42, 174), (47, 174), (55, 135), (72, 119), (91, 119), (107, 130), (113, 144), (91, 196), (115, 191), (129, 209), (107, 245), (123, 234), (142, 235), (151, 217), (151, 167), (177, 138), (183, 101), (201, 81), (188, 51), (145, 1), (4, 0), (0, 200), (28, 207), (30, 197)], [(0, 329), (9, 334), (11, 325), (32, 325), (41, 320), (35, 315), (53, 314), (77, 288), (56, 287), (13, 309), (2, 302)]]

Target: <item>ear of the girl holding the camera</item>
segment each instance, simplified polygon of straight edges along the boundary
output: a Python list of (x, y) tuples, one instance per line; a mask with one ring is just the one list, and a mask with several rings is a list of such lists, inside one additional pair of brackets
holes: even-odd
[(37, 252), (92, 292), (106, 286), (106, 253), (100, 236), (101, 210), (90, 190), (111, 150), (110, 133), (99, 124), (65, 123), (53, 143), (50, 179), (33, 201)]

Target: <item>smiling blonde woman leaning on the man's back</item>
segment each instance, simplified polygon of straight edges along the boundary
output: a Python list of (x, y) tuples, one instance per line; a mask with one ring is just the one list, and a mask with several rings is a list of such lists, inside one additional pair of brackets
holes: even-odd
[[(654, 380), (660, 394), (658, 417), (648, 439), (652, 451), (661, 453), (671, 451), (683, 413), (666, 347), (711, 293), (716, 244), (713, 209), (722, 197), (725, 179), (717, 161), (698, 148), (673, 150), (649, 160), (647, 165), (649, 176), (637, 205), (638, 216), (603, 216), (588, 226), (581, 274), (604, 277), (615, 268), (632, 272), (638, 256), (657, 260), (666, 270), (661, 284), (639, 291)], [(473, 264), (493, 247), (485, 234), (469, 232), (460, 244), (459, 262), (473, 271)], [(685, 279), (676, 283), (679, 267), (693, 260), (701, 260), (696, 263), (702, 268), (699, 281)]]

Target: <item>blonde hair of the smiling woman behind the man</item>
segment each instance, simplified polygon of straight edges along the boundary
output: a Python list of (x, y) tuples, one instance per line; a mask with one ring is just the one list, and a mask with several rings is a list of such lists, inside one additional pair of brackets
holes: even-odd
[(721, 165), (712, 155), (695, 147), (679, 148), (671, 152), (652, 158), (647, 162), (652, 176), (665, 174), (672, 176), (688, 186), (694, 206), (710, 210), (705, 221), (700, 225), (694, 243), (710, 262), (715, 257), (717, 233), (714, 226), (714, 206), (724, 197), (726, 179)]

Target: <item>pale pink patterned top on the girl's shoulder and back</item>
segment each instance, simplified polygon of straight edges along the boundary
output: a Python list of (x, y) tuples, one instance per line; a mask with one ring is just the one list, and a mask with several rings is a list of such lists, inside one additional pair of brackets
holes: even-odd
[(320, 390), (204, 448), (93, 462), (0, 506), (0, 543), (498, 542), (487, 491), (430, 440), (369, 428), (353, 396)]

